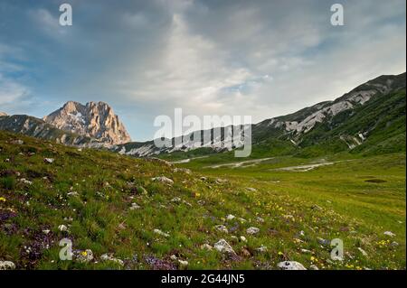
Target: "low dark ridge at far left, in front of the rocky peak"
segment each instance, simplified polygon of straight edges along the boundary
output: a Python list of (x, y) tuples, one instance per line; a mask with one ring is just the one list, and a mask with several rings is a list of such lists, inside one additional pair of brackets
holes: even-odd
[(58, 144), (98, 146), (99, 141), (90, 137), (66, 132), (44, 122), (42, 119), (26, 115), (0, 116), (0, 130), (20, 133)]

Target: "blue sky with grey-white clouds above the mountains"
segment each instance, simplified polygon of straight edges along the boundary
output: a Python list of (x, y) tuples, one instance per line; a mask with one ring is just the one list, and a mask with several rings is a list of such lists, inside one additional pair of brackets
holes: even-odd
[(176, 107), (257, 123), (404, 72), (405, 11), (405, 0), (1, 0), (0, 111), (104, 101), (134, 141)]

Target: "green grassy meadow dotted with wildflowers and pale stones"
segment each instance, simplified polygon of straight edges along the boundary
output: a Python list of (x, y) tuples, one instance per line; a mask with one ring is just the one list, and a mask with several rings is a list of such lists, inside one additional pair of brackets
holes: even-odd
[[(19, 269), (276, 269), (284, 260), (319, 269), (405, 269), (405, 153), (324, 160), (287, 155), (238, 168), (208, 167), (235, 161), (244, 159), (225, 153), (169, 165), (0, 132), (0, 261)], [(323, 161), (333, 164), (279, 170)], [(174, 184), (153, 181), (157, 176)], [(229, 214), (235, 218), (228, 220)], [(260, 232), (248, 235), (250, 227)], [(60, 260), (65, 237), (75, 251), (90, 249), (94, 259)], [(344, 261), (332, 261), (332, 248), (318, 237), (342, 239)], [(221, 238), (236, 256), (201, 248)], [(267, 252), (258, 252), (260, 246)], [(102, 261), (106, 253), (124, 265)]]

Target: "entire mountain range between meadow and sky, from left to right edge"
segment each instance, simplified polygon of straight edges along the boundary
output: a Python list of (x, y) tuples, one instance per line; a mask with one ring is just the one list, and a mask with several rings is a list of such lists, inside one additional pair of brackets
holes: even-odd
[[(397, 131), (398, 136), (393, 135), (393, 132), (392, 135), (398, 137), (396, 137), (398, 143), (400, 141), (405, 143), (405, 125), (400, 124), (401, 120), (405, 119), (405, 80), (405, 72), (399, 75), (382, 75), (334, 100), (319, 102), (285, 116), (276, 116), (252, 124), (252, 144), (255, 149), (265, 150), (275, 149), (276, 145), (286, 145), (287, 149), (284, 150), (296, 151), (296, 153), (298, 150), (301, 150), (299, 153), (312, 150), (313, 146), (325, 146), (322, 150), (329, 152), (360, 151), (362, 148), (359, 146), (364, 147), (365, 143), (373, 142), (373, 140), (368, 141), (371, 134), (377, 135), (376, 140), (387, 141), (386, 135), (378, 136), (380, 131), (377, 130), (389, 132), (393, 129), (389, 128), (389, 125), (396, 125), (393, 130)], [(383, 106), (382, 103), (387, 104)], [(361, 119), (355, 114), (362, 114), (365, 117)], [(198, 148), (194, 141), (194, 133), (172, 138), (172, 145), (164, 148), (157, 148), (154, 140), (130, 142), (126, 128), (118, 120), (112, 108), (104, 102), (89, 102), (82, 105), (79, 102), (68, 101), (49, 116), (44, 116), (43, 120), (38, 118), (33, 120), (34, 117), (27, 116), (31, 117), (27, 118), (31, 121), (31, 125), (35, 123), (40, 125), (35, 133), (33, 129), (24, 129), (24, 125), (14, 127), (9, 120), (7, 121), (12, 119), (9, 117), (0, 116), (1, 129), (56, 140), (62, 144), (106, 148), (113, 152), (137, 157), (184, 153), (191, 150), (199, 150), (200, 153), (219, 153), (232, 151), (241, 146), (239, 144), (241, 135), (231, 135), (233, 140), (238, 140), (237, 144), (223, 135), (232, 127), (231, 125), (221, 127), (222, 136), (217, 139), (213, 139), (213, 129), (199, 131), (202, 136), (209, 133), (211, 138), (206, 143), (201, 140), (201, 147)], [(387, 122), (383, 123), (383, 119)], [(44, 123), (51, 126), (45, 126)], [(43, 130), (41, 127), (45, 127), (47, 131), (51, 129), (52, 133), (38, 133)], [(52, 134), (67, 135), (55, 138)], [(176, 146), (175, 143), (181, 143), (179, 141), (181, 137), (187, 141)], [(76, 140), (65, 141), (66, 139)], [(377, 141), (374, 143), (379, 144)]]

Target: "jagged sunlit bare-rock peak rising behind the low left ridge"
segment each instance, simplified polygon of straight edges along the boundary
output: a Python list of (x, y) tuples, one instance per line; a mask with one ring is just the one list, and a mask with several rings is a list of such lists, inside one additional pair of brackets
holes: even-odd
[(69, 101), (49, 116), (44, 116), (43, 120), (63, 131), (95, 138), (106, 144), (124, 144), (131, 141), (125, 126), (113, 109), (104, 102), (82, 105)]

